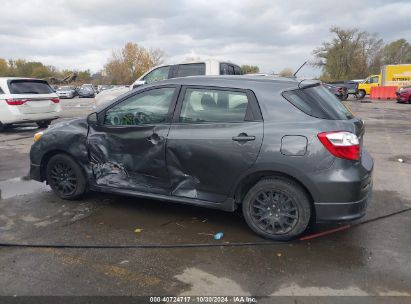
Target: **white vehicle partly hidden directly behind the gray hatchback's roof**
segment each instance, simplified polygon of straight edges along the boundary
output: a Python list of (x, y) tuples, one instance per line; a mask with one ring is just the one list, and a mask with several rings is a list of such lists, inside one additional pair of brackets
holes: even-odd
[(214, 59), (190, 61), (178, 64), (162, 64), (148, 70), (138, 78), (130, 87), (118, 87), (105, 90), (96, 97), (96, 104), (101, 105), (111, 101), (117, 96), (128, 92), (136, 87), (154, 81), (197, 76), (197, 75), (241, 75), (241, 68), (231, 62), (218, 61)]

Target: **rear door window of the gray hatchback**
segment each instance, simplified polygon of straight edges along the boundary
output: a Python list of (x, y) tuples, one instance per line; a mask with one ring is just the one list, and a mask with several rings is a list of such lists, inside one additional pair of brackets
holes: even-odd
[(187, 89), (180, 122), (242, 122), (247, 120), (248, 103), (244, 92)]

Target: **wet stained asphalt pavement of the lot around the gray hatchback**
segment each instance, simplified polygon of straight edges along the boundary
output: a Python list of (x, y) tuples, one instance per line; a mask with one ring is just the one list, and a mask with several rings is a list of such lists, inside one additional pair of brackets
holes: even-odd
[[(347, 103), (365, 121), (364, 144), (375, 160), (368, 213), (354, 223), (410, 208), (411, 105)], [(91, 99), (64, 100), (62, 119), (85, 116), (93, 104)], [(308, 241), (267, 245), (239, 212), (101, 193), (64, 201), (47, 185), (25, 178), (38, 130), (28, 124), (0, 133), (0, 242), (148, 248), (0, 247), (0, 295), (372, 295), (385, 296), (383, 302), (411, 300), (411, 212)], [(316, 225), (307, 235), (345, 224)], [(224, 233), (219, 241), (213, 238), (217, 232)], [(264, 244), (229, 246), (246, 242)]]

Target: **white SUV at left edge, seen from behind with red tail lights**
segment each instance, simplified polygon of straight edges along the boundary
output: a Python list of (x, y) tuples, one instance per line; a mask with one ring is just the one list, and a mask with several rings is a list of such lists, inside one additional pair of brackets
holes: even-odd
[(0, 131), (24, 122), (45, 128), (60, 112), (60, 100), (47, 81), (0, 77)]

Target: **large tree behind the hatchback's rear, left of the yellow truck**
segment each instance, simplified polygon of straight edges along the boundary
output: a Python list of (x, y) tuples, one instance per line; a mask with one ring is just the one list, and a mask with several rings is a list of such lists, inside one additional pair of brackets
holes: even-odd
[(334, 38), (314, 50), (314, 65), (322, 67), (323, 80), (364, 78), (379, 71), (383, 41), (376, 34), (339, 27), (330, 32)]

